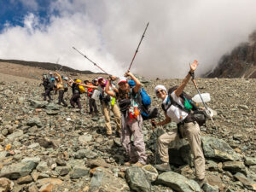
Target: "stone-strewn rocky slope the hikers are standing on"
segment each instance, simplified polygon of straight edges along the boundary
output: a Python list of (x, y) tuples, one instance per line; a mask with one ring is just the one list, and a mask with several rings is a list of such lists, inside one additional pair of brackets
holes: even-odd
[[(180, 79), (142, 81), (159, 108), (154, 86), (181, 83)], [(148, 166), (126, 167), (119, 138), (106, 137), (102, 114), (91, 118), (84, 108), (80, 113), (60, 107), (57, 96), (54, 102), (44, 102), (39, 83), (0, 74), (0, 191), (201, 191), (193, 180), (193, 156), (185, 140), (170, 145), (172, 172), (157, 172), (150, 166), (156, 137), (175, 124), (153, 132), (145, 121)], [(217, 127), (209, 120), (201, 127), (208, 182), (203, 190), (256, 190), (256, 79), (197, 79), (197, 83), (201, 92), (211, 94), (208, 105), (218, 113), (213, 118)], [(186, 91), (196, 94), (192, 83)], [(84, 96), (82, 103), (85, 106)]]

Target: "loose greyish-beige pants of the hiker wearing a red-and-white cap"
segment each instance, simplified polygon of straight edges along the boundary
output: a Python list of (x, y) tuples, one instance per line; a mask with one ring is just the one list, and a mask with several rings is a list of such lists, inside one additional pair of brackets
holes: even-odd
[[(122, 114), (122, 146), (132, 162), (140, 162), (145, 165), (147, 155), (143, 139), (143, 117), (138, 115), (137, 119), (135, 119), (129, 117), (129, 115), (127, 116), (125, 117)], [(131, 136), (133, 136), (133, 145), (131, 143)]]

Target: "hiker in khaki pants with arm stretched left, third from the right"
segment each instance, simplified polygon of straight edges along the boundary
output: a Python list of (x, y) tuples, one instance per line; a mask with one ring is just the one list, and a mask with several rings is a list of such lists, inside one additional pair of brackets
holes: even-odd
[[(112, 77), (111, 81), (115, 80), (115, 77)], [(111, 122), (110, 122), (110, 110), (113, 112), (113, 116), (115, 119), (116, 123), (116, 130), (117, 130), (117, 136), (120, 135), (121, 133), (121, 115), (119, 112), (119, 108), (116, 105), (116, 102), (114, 101), (115, 98), (112, 98), (111, 96), (108, 96), (107, 93), (105, 93), (105, 87), (108, 81), (106, 79), (103, 79), (102, 77), (98, 78), (98, 86), (95, 85), (86, 85), (83, 84), (84, 87), (86, 88), (92, 88), (95, 90), (100, 91), (100, 101), (102, 104), (102, 113), (104, 114), (105, 117), (105, 127), (107, 130), (107, 135), (112, 136), (112, 127), (111, 127)], [(109, 89), (115, 89), (115, 86), (109, 82)]]

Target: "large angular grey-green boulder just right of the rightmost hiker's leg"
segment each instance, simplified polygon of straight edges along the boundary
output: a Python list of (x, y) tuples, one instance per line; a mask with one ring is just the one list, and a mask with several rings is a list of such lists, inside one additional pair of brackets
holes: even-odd
[(202, 148), (206, 158), (221, 161), (239, 160), (239, 154), (224, 140), (213, 137), (201, 137)]

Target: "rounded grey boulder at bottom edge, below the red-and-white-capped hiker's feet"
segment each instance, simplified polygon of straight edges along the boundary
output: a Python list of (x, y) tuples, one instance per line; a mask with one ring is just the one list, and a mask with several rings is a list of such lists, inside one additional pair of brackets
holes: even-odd
[(149, 183), (146, 174), (138, 166), (131, 166), (125, 171), (126, 182), (129, 183), (129, 186), (132, 190), (137, 192), (151, 191), (151, 184)]

